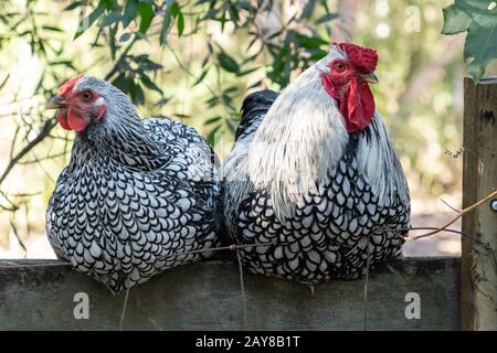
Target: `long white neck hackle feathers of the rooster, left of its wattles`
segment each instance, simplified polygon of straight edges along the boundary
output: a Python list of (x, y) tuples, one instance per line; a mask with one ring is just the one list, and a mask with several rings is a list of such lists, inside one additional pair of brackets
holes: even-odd
[(327, 64), (345, 54), (336, 46), (304, 72), (274, 101), (248, 148), (246, 176), (268, 190), (281, 218), (290, 216), (304, 196), (329, 181), (329, 170), (348, 141), (336, 100), (320, 76)]

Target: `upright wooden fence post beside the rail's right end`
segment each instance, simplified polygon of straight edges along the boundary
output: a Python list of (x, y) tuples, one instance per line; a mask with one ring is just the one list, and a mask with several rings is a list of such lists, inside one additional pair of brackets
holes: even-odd
[[(463, 207), (497, 189), (497, 77), (464, 82)], [(494, 205), (495, 205), (494, 201)], [(489, 206), (490, 204), (490, 206)], [(463, 216), (461, 329), (497, 330), (497, 212), (485, 203)]]

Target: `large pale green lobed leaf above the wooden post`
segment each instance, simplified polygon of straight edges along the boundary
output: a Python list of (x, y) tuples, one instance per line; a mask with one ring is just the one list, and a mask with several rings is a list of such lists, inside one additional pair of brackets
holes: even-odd
[(467, 32), (464, 58), (477, 83), (497, 58), (497, 6), (488, 0), (455, 0), (444, 10), (443, 34)]

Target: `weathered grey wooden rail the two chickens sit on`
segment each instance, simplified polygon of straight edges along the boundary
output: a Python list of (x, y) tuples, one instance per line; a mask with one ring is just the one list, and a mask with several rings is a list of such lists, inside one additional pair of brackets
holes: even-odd
[[(125, 295), (113, 297), (103, 285), (67, 266), (43, 265), (46, 263), (0, 261), (0, 330), (119, 329)], [(374, 270), (368, 290), (368, 330), (458, 329), (458, 268), (457, 258), (400, 258)], [(363, 280), (328, 282), (310, 295), (307, 287), (284, 280), (244, 277), (246, 327), (237, 266), (208, 261), (165, 271), (131, 290), (123, 329), (364, 328)], [(88, 296), (87, 320), (74, 317), (80, 303), (74, 301), (76, 293)], [(405, 315), (412, 304), (413, 295), (409, 293), (419, 295), (420, 319)]]

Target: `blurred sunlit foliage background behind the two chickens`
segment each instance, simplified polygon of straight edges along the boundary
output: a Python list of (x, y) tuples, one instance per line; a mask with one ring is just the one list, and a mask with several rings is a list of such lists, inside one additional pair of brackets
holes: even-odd
[[(0, 257), (46, 256), (44, 208), (73, 135), (44, 103), (68, 77), (105, 77), (142, 116), (184, 120), (223, 158), (247, 92), (285, 87), (339, 41), (379, 52), (377, 106), (414, 211), (433, 211), (442, 194), (457, 204), (465, 67), (464, 38), (441, 34), (451, 2), (1, 1)], [(445, 32), (469, 29), (457, 23)]]

